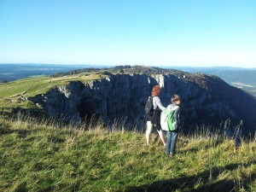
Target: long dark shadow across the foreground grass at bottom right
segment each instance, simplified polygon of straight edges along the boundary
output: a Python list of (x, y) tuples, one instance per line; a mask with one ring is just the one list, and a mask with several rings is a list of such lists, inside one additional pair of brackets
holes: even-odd
[[(238, 167), (248, 167), (255, 164), (256, 161), (247, 164), (230, 164), (224, 167), (212, 167), (198, 173), (194, 176), (183, 175), (169, 180), (160, 180), (154, 183), (148, 183), (141, 186), (132, 186), (125, 189), (126, 192), (167, 192), (167, 191), (183, 191), (183, 192), (224, 192), (224, 191), (239, 191), (241, 187), (248, 189), (250, 184), (256, 178), (256, 173), (250, 177), (242, 177), (241, 181), (234, 179), (223, 179), (220, 181), (219, 176), (225, 171), (235, 171)], [(242, 183), (242, 185), (241, 185)]]

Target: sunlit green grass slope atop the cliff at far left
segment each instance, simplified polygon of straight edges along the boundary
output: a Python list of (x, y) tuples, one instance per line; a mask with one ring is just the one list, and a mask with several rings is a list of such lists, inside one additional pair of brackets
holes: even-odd
[[(61, 85), (69, 84), (72, 81), (88, 82), (94, 79), (101, 79), (106, 75), (96, 73), (80, 73), (58, 78), (35, 77), (20, 79), (9, 83), (0, 83), (0, 109), (9, 111), (12, 108), (34, 108), (38, 107), (29, 101), (22, 101), (18, 98), (45, 94), (47, 91)], [(18, 100), (17, 100), (18, 99)]]

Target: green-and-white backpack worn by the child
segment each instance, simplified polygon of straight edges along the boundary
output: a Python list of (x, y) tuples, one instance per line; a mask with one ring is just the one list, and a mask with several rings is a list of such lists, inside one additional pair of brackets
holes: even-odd
[(177, 121), (174, 118), (174, 111), (178, 108), (166, 108), (162, 111), (160, 116), (160, 125), (164, 131), (175, 131), (177, 129)]

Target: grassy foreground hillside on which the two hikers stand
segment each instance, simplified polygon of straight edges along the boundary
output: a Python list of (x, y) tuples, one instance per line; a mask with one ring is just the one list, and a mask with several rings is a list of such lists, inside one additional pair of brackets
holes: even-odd
[[(144, 127), (143, 127), (144, 128)], [(156, 134), (100, 121), (71, 128), (31, 118), (0, 118), (0, 191), (255, 191), (256, 143), (178, 138), (167, 158)]]

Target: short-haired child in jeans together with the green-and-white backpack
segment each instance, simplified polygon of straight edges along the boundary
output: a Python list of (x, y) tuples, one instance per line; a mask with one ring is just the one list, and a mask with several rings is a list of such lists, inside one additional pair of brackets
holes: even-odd
[(173, 156), (176, 153), (177, 132), (179, 124), (179, 105), (181, 104), (180, 96), (173, 95), (172, 104), (168, 105), (166, 110), (161, 113), (162, 129), (167, 131), (166, 155)]

